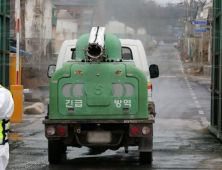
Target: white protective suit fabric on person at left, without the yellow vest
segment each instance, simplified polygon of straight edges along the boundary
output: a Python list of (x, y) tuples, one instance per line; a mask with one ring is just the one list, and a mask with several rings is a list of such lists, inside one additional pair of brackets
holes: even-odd
[[(10, 119), (14, 111), (14, 101), (10, 92), (0, 88), (0, 120)], [(0, 170), (5, 170), (9, 160), (9, 144), (0, 145)]]

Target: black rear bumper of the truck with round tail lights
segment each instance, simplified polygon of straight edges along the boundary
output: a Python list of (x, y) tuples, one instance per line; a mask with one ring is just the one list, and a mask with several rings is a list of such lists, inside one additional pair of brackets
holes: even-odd
[[(145, 123), (144, 123), (145, 122)], [(139, 146), (141, 152), (151, 152), (153, 146), (153, 122), (150, 120), (44, 120), (48, 140), (62, 140), (73, 147)], [(132, 129), (137, 129), (136, 133)], [(149, 127), (145, 134), (142, 129)], [(59, 129), (65, 129), (61, 135)], [(54, 129), (51, 134), (50, 129)], [(101, 140), (100, 140), (101, 139)]]

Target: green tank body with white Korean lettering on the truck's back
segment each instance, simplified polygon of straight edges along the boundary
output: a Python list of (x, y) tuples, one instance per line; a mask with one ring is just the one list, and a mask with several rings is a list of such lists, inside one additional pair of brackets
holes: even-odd
[(89, 34), (79, 38), (77, 61), (63, 64), (50, 81), (49, 119), (147, 119), (147, 80), (133, 62), (121, 60), (117, 37), (106, 34), (109, 61), (80, 62)]

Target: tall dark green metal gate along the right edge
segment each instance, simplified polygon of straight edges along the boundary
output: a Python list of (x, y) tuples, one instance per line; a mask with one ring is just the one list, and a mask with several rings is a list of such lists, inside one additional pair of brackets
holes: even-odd
[(222, 8), (221, 0), (213, 1), (213, 57), (210, 130), (222, 140)]

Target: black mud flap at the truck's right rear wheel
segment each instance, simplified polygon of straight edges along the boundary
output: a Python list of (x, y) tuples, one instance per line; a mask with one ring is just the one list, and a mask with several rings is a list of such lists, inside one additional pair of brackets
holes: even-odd
[(140, 138), (139, 152), (152, 152), (153, 151), (153, 136)]

